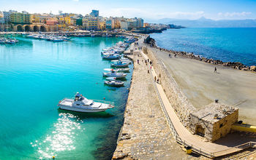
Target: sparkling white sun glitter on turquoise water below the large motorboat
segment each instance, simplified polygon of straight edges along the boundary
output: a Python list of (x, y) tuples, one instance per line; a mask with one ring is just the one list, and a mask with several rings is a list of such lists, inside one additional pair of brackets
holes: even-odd
[(31, 146), (37, 148), (39, 159), (49, 159), (60, 151), (75, 150), (75, 133), (83, 132), (80, 125), (83, 123), (71, 113), (59, 113), (59, 119), (53, 125), (53, 130), (42, 142), (35, 140)]

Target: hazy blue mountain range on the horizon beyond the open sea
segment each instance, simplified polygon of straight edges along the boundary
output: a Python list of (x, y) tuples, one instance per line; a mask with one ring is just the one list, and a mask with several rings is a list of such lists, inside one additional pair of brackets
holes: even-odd
[(163, 18), (154, 23), (175, 24), (185, 27), (197, 28), (252, 28), (256, 27), (256, 20), (211, 20), (200, 17), (198, 20), (178, 20), (171, 18)]

